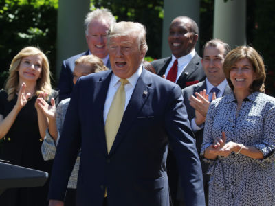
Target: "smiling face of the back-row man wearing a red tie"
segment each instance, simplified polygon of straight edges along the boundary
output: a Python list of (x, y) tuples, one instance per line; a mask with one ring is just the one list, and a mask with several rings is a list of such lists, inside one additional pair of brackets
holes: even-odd
[(176, 58), (189, 54), (194, 49), (198, 35), (191, 32), (188, 19), (174, 19), (170, 25), (168, 43)]

